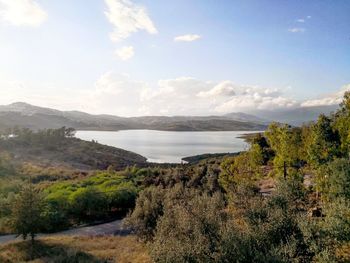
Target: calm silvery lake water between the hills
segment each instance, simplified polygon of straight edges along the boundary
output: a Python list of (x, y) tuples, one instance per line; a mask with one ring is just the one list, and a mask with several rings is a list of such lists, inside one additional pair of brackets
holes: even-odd
[(180, 163), (181, 158), (187, 156), (246, 150), (248, 144), (238, 137), (248, 133), (256, 131), (77, 131), (76, 137), (141, 154), (149, 162)]

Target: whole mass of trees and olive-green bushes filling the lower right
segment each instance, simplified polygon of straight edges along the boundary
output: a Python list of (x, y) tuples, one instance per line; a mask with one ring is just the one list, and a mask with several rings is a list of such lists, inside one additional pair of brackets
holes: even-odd
[[(155, 262), (350, 262), (350, 93), (303, 127), (273, 123), (217, 187), (146, 188), (126, 220)], [(305, 184), (305, 178), (309, 184)], [(263, 196), (258, 183), (273, 178)]]

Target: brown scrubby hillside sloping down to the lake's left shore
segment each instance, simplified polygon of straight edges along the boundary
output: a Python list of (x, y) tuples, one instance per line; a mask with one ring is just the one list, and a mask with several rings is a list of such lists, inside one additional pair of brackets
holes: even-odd
[(15, 138), (0, 140), (0, 153), (5, 151), (17, 163), (32, 163), (43, 167), (67, 167), (93, 170), (115, 169), (146, 164), (146, 158), (123, 149), (77, 138), (57, 136), (58, 130), (38, 133), (23, 132)]

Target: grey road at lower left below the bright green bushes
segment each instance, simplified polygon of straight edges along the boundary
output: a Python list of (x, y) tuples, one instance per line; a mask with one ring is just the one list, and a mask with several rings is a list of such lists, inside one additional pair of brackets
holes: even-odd
[[(101, 236), (101, 235), (127, 235), (129, 231), (123, 229), (122, 220), (116, 220), (109, 223), (104, 223), (94, 226), (78, 227), (62, 232), (57, 232), (53, 234), (39, 234), (38, 237), (47, 237), (47, 236), (62, 236), (62, 235), (71, 235), (71, 236)], [(0, 236), (0, 244), (4, 244), (16, 239), (21, 239), (21, 237), (16, 238), (15, 235), (5, 235)]]

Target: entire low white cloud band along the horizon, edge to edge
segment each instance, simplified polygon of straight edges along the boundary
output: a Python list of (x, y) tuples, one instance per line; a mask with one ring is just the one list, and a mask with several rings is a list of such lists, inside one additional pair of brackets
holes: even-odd
[[(296, 101), (283, 90), (233, 81), (204, 81), (191, 77), (162, 79), (157, 83), (133, 80), (113, 71), (102, 74), (85, 90), (0, 80), (0, 104), (25, 101), (64, 110), (82, 110), (119, 116), (220, 115), (229, 112), (280, 110), (286, 108), (336, 105), (350, 84), (318, 99)], [(61, 92), (57, 92), (61, 90)], [(42, 104), (46, 103), (46, 104)]]

